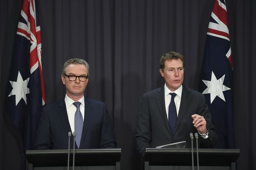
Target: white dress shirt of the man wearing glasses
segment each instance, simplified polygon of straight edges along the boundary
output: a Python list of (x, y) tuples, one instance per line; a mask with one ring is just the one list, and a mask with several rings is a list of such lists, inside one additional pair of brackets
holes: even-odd
[(67, 94), (65, 96), (65, 103), (67, 108), (67, 113), (69, 117), (69, 125), (72, 130), (72, 134), (75, 131), (75, 113), (76, 113), (76, 106), (73, 105), (74, 102), (80, 102), (80, 111), (82, 113), (82, 118), (84, 120), (84, 96), (78, 101), (73, 101)]

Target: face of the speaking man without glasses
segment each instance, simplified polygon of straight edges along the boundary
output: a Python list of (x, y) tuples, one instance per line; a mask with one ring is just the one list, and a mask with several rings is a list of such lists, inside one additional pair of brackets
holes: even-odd
[(166, 60), (164, 62), (164, 70), (160, 69), (160, 74), (165, 80), (169, 90), (177, 90), (184, 79), (184, 68), (181, 59)]

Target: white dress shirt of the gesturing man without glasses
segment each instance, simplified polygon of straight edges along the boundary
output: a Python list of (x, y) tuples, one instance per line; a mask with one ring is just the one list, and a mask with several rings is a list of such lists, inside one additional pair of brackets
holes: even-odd
[(177, 117), (179, 115), (180, 110), (180, 101), (181, 101), (181, 94), (182, 94), (182, 85), (175, 91), (170, 91), (168, 87), (166, 86), (166, 83), (164, 84), (164, 102), (165, 102), (165, 110), (168, 118), (168, 111), (169, 111), (169, 105), (170, 105), (170, 99), (172, 98), (172, 95), (169, 93), (175, 92), (177, 95), (174, 98), (174, 103), (177, 110)]

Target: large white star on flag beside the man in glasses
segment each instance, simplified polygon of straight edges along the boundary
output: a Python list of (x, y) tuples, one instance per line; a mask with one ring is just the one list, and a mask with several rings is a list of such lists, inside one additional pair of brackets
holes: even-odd
[(16, 106), (22, 98), (27, 104), (26, 94), (29, 94), (29, 88), (28, 88), (29, 78), (23, 81), (22, 75), (20, 75), (20, 72), (18, 71), (17, 81), (16, 82), (10, 81), (10, 83), (13, 89), (8, 96), (15, 95)]

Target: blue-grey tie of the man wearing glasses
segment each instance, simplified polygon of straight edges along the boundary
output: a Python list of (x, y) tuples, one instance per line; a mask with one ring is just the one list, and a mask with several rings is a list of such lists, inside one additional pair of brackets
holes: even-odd
[(80, 102), (74, 102), (73, 105), (76, 106), (76, 113), (75, 113), (75, 132), (76, 132), (76, 145), (79, 148), (80, 141), (82, 137), (82, 127), (83, 127), (83, 119), (82, 113), (80, 112)]

